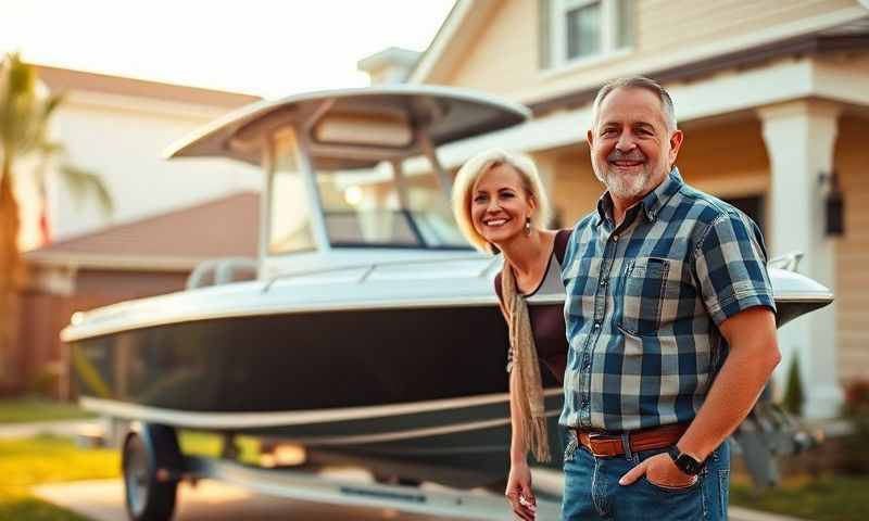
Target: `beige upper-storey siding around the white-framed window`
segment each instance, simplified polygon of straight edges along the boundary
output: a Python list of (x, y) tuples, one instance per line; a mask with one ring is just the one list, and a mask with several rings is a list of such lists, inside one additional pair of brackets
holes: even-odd
[[(857, 7), (857, 0), (635, 0), (634, 48), (610, 59), (541, 71), (538, 67), (537, 1), (509, 0), (496, 9), (450, 71), (427, 82), (482, 89), (530, 102), (582, 86), (643, 72), (668, 58), (691, 60), (709, 46), (726, 46), (742, 37), (799, 25), (817, 16)], [(705, 55), (703, 58), (706, 58)], [(664, 59), (664, 62), (662, 62)], [(675, 64), (675, 62), (673, 62)]]

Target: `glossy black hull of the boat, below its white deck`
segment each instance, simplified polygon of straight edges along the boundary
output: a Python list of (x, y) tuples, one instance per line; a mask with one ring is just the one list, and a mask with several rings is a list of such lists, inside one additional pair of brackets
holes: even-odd
[[(112, 417), (478, 486), (506, 475), (506, 348), (484, 305), (172, 323), (75, 341), (72, 358), (83, 404)], [(543, 374), (557, 450), (562, 390)]]

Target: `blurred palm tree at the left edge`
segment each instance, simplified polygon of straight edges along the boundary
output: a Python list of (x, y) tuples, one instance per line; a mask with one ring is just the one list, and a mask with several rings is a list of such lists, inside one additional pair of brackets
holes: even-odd
[[(0, 61), (0, 386), (11, 383), (14, 377), (12, 331), (17, 320), (17, 292), (25, 282), (18, 245), (18, 201), (13, 190), (15, 176), (34, 177), (43, 213), (47, 177), (53, 171), (66, 181), (73, 196), (91, 192), (104, 212), (112, 209), (109, 191), (100, 178), (66, 163), (63, 145), (49, 139), (49, 122), (63, 99), (45, 90), (36, 67), (24, 63), (17, 53)], [(16, 169), (17, 162), (28, 156), (37, 157), (39, 166)], [(49, 167), (54, 160), (60, 160), (56, 169)]]

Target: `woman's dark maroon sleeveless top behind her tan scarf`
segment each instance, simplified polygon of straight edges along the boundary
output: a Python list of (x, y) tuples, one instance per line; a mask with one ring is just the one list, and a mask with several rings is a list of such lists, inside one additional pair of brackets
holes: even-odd
[[(534, 291), (522, 295), (528, 303), (528, 317), (531, 320), (537, 356), (552, 371), (558, 383), (564, 383), (564, 370), (567, 366), (562, 262), (564, 262), (567, 241), (570, 240), (570, 231), (558, 230), (555, 234), (555, 244), (543, 280)], [(501, 274), (495, 276), (495, 292), (498, 298), (503, 300)]]

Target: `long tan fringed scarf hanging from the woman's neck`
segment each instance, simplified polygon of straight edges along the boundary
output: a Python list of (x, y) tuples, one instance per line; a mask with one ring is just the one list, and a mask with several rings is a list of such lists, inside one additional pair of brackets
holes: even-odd
[(509, 372), (509, 399), (519, 405), (519, 429), (525, 448), (531, 450), (538, 461), (550, 460), (550, 444), (546, 433), (546, 416), (543, 406), (543, 383), (537, 345), (531, 332), (528, 304), (516, 289), (516, 278), (508, 263), (501, 271), (501, 312), (509, 328), (512, 370)]

